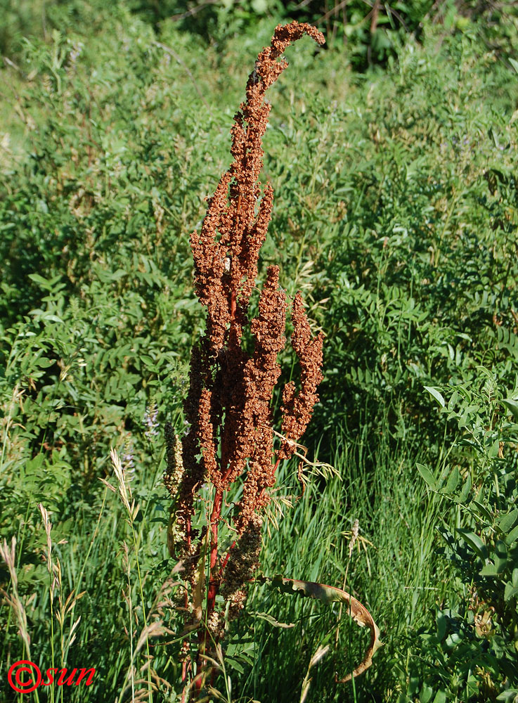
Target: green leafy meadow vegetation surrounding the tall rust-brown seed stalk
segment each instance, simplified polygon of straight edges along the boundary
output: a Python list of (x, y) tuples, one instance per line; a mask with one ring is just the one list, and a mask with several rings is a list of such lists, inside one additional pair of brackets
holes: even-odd
[[(179, 701), (162, 473), (205, 325), (189, 235), (257, 53), (302, 9), (3, 4), (1, 699), (32, 659), (96, 668), (37, 701)], [(368, 633), (256, 581), (208, 695), (517, 701), (518, 13), (415, 1), (370, 32), (365, 7), (322, 20), (328, 46), (298, 41), (268, 91), (259, 285), (279, 266), (325, 340), (313, 465), (301, 486), (280, 464), (259, 562), (345, 588), (384, 646), (335, 683)], [(298, 370), (278, 361), (282, 386)]]

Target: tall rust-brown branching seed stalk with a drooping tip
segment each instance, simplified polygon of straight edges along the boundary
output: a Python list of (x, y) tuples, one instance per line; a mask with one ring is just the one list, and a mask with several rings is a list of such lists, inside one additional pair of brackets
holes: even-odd
[[(184, 403), (190, 427), (181, 447), (171, 426), (166, 427), (164, 481), (174, 499), (169, 551), (182, 560), (190, 587), (183, 603), (186, 631), (198, 630), (194, 690), (202, 687), (204, 656), (221, 640), (225, 617), (231, 621), (244, 607), (246, 584), (258, 565), (261, 510), (268, 505), (268, 489), (276, 482), (280, 461), (292, 456), (309, 423), (322, 380), (323, 335), (311, 335), (297, 293), (291, 344), (301, 370), (300, 385), (297, 389), (290, 381), (283, 388), (282, 439), (274, 448), (271, 397), (280, 375), (277, 357), (285, 347), (287, 309), (278, 266), (268, 267), (253, 319), (249, 306), (273, 205), (271, 185), (261, 190), (259, 182), (261, 143), (271, 109), (265, 93), (287, 67), (283, 52), (304, 34), (324, 43), (315, 27), (292, 22), (278, 26), (271, 46), (259, 53), (231, 129), (233, 163), (207, 199), (200, 232), (190, 236), (195, 290), (207, 308), (207, 322), (205, 335), (191, 353)], [(245, 348), (247, 334), (252, 337), (251, 352)], [(197, 494), (207, 484), (212, 486), (207, 521), (197, 528)], [(222, 549), (222, 510), (233, 487), (242, 493), (225, 517), (233, 539)], [(223, 596), (223, 607), (216, 605), (217, 595)], [(186, 663), (184, 680), (187, 675)]]

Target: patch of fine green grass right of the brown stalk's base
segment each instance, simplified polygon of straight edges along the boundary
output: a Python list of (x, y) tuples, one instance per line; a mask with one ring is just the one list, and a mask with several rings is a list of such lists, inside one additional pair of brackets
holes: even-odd
[[(344, 588), (361, 594), (377, 618), (384, 642), (373, 667), (356, 679), (356, 697), (396, 700), (412, 633), (427, 621), (431, 604), (448, 591), (448, 568), (434, 546), (434, 524), (443, 506), (415, 479), (415, 462), (426, 451), (420, 444), (394, 446), (387, 434), (373, 441), (366, 431), (351, 437), (341, 430), (336, 439), (337, 475), (313, 478), (302, 496), (293, 472), (290, 475), (286, 467), (287, 475), (280, 477), (290, 486), (282, 492), (293, 507), (283, 507), (283, 520), (278, 529), (271, 529), (261, 569), (272, 572), (281, 567), (283, 573), (297, 572), (299, 578), (326, 583), (342, 583), (347, 572)], [(349, 557), (355, 520), (359, 535)], [(284, 556), (282, 565), (279, 554)], [(252, 616), (243, 623), (242, 637), (253, 632), (250, 653), (260, 666), (249, 671), (241, 695), (298, 699), (311, 657), (319, 647), (331, 645), (330, 653), (311, 671), (307, 700), (354, 700), (351, 688), (337, 688), (335, 672), (342, 676), (355, 657), (358, 661), (365, 636), (354, 624), (351, 628), (342, 624), (339, 646), (333, 651), (338, 607), (326, 612), (321, 604), (272, 599), (269, 591), (256, 588), (250, 608), (295, 627), (272, 629)]]

